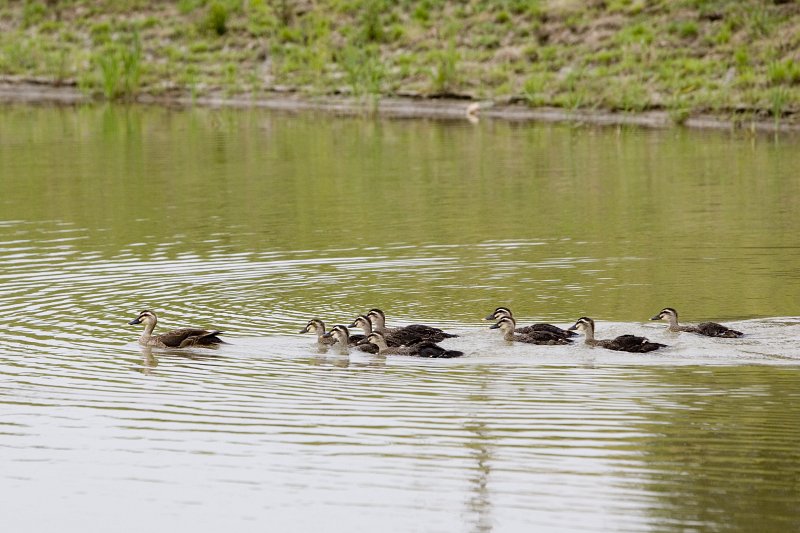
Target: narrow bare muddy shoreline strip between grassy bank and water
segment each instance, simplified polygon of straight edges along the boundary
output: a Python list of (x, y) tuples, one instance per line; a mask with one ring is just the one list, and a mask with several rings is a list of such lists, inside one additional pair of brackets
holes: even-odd
[[(467, 120), (481, 118), (527, 123), (572, 123), (594, 126), (634, 126), (648, 129), (689, 128), (693, 130), (749, 131), (753, 133), (798, 133), (800, 123), (741, 116), (731, 118), (701, 114), (680, 124), (667, 111), (613, 112), (587, 109), (564, 110), (556, 107), (528, 107), (457, 98), (380, 97), (375, 103), (346, 96), (308, 97), (293, 92), (273, 92), (267, 96), (224, 97), (141, 94), (132, 104), (164, 107), (208, 107), (269, 109), (275, 111), (319, 111), (338, 115), (369, 115), (399, 119)], [(47, 79), (0, 78), (0, 104), (93, 105), (106, 103), (93, 98), (74, 84), (53, 83)], [(123, 104), (124, 105), (124, 104)]]

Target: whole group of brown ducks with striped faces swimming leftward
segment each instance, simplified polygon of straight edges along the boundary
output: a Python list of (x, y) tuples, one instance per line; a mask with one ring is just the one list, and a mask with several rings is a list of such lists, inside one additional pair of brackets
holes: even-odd
[[(496, 321), (490, 329), (499, 329), (507, 341), (523, 342), (527, 344), (571, 344), (577, 335), (582, 332), (586, 344), (600, 346), (609, 350), (622, 352), (646, 353), (666, 348), (665, 344), (650, 342), (645, 337), (636, 335), (620, 335), (614, 339), (595, 339), (594, 320), (589, 317), (579, 318), (574, 325), (567, 329), (559, 328), (552, 324), (532, 324), (517, 327), (511, 310), (507, 307), (498, 307), (486, 317), (486, 320)], [(665, 307), (650, 320), (667, 320), (667, 330), (673, 332), (689, 332), (705, 335), (707, 337), (741, 337), (741, 331), (730, 329), (716, 322), (703, 322), (697, 325), (678, 324), (678, 312)], [(144, 333), (139, 337), (139, 344), (155, 346), (158, 348), (187, 348), (191, 346), (213, 346), (224, 344), (219, 335), (219, 330), (205, 330), (199, 328), (181, 328), (158, 335), (153, 330), (158, 322), (158, 317), (153, 311), (145, 310), (139, 313), (129, 324), (144, 324)], [(349, 328), (361, 328), (363, 334), (351, 335)], [(317, 343), (321, 346), (339, 344), (343, 350), (353, 346), (356, 349), (381, 355), (410, 355), (427, 358), (452, 358), (461, 357), (463, 352), (447, 350), (439, 346), (438, 342), (444, 339), (458, 337), (439, 328), (424, 324), (412, 324), (396, 328), (386, 327), (386, 314), (380, 309), (371, 309), (365, 315), (359, 315), (348, 325), (334, 326), (330, 331), (325, 330), (325, 324), (317, 318), (309, 320), (300, 333), (314, 333)]]

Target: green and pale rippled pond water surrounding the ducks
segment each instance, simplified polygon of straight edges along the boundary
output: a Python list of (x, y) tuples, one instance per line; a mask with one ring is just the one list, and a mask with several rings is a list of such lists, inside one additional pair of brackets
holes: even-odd
[[(0, 108), (5, 527), (798, 530), (798, 168), (731, 133)], [(669, 348), (510, 345), (500, 305)], [(465, 357), (297, 334), (372, 307)], [(229, 344), (142, 348), (144, 308)]]

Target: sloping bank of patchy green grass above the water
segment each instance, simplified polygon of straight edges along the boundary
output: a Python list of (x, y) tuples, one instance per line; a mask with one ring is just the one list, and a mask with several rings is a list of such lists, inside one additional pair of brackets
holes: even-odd
[(141, 94), (465, 97), (800, 121), (786, 0), (0, 0), (0, 74)]

